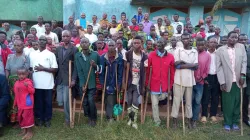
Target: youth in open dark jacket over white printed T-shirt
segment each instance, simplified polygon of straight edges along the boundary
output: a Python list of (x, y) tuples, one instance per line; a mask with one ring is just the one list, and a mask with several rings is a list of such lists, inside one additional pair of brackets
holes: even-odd
[(143, 47), (142, 39), (140, 36), (136, 36), (133, 40), (133, 50), (126, 53), (126, 60), (130, 65), (128, 75), (128, 125), (137, 129), (137, 116), (138, 116), (138, 97), (144, 94), (144, 80), (145, 80), (145, 62), (147, 55), (141, 51)]

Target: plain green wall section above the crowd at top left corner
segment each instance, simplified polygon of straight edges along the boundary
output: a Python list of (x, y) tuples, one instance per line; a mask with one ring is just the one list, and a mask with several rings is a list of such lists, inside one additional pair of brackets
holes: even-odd
[(44, 20), (63, 20), (62, 0), (0, 0), (0, 20), (37, 21), (39, 15)]

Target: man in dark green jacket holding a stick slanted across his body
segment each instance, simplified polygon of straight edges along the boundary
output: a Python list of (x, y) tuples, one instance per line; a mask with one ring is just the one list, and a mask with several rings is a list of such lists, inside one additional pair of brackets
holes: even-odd
[[(89, 25), (91, 26), (91, 25)], [(89, 28), (89, 27), (88, 27)], [(75, 68), (77, 70), (80, 86), (80, 97), (85, 93), (83, 101), (84, 116), (88, 117), (89, 126), (96, 126), (97, 110), (94, 96), (96, 93), (96, 74), (100, 72), (99, 63), (100, 57), (97, 52), (90, 50), (90, 42), (88, 38), (81, 40), (82, 51), (75, 54)], [(89, 76), (89, 82), (85, 89), (87, 76), (92, 65), (92, 70)]]

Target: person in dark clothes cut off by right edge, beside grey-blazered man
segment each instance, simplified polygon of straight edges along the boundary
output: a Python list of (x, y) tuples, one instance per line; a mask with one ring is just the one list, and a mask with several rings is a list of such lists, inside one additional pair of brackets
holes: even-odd
[(250, 119), (248, 117), (248, 106), (250, 98), (250, 48), (248, 47), (248, 36), (246, 34), (241, 34), (239, 36), (239, 43), (243, 44), (247, 53), (247, 87), (244, 89), (243, 94), (243, 122), (250, 127)]

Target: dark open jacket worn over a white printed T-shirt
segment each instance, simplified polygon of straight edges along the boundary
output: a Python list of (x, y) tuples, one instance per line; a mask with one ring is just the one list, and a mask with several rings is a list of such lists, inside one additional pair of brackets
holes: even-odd
[[(130, 50), (126, 52), (126, 60), (129, 63), (129, 75), (128, 75), (128, 87), (132, 84), (133, 76), (132, 76), (132, 66), (133, 66), (133, 51)], [(148, 59), (148, 56), (141, 52), (141, 63), (140, 63), (140, 79), (139, 79), (139, 92), (141, 95), (144, 94), (144, 87), (145, 87), (145, 68), (144, 68), (144, 62)]]

